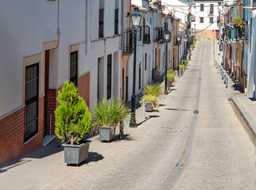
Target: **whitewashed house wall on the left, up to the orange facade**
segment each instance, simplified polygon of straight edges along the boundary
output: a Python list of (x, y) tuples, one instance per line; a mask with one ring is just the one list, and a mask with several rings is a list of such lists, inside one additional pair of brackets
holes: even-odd
[[(69, 48), (79, 44), (79, 70), (81, 76), (90, 71), (90, 110), (97, 102), (97, 62), (103, 57), (103, 84), (106, 95), (107, 55), (112, 54), (112, 66), (120, 70), (120, 36), (114, 36), (114, 9), (120, 0), (105, 0), (105, 39), (98, 40), (99, 0), (59, 1), (59, 77), (58, 86), (54, 75), (57, 67), (50, 69), (50, 88), (63, 86), (69, 69)], [(0, 118), (22, 106), (23, 58), (41, 54), (43, 74), (43, 44), (58, 40), (58, 1), (13, 0), (0, 6)], [(120, 32), (119, 13), (119, 32)], [(50, 62), (56, 61), (56, 50), (50, 51)], [(115, 59), (114, 59), (114, 53)], [(113, 70), (112, 97), (120, 96), (120, 72)], [(42, 78), (43, 79), (43, 78)], [(40, 83), (43, 92), (43, 80)], [(115, 94), (114, 94), (115, 88)], [(44, 95), (44, 94), (40, 94)]]

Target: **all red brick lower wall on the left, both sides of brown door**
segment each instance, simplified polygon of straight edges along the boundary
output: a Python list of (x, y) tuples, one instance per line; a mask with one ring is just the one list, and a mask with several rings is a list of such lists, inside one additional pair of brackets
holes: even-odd
[[(52, 114), (52, 131), (55, 135), (55, 108), (59, 103), (56, 100), (59, 89), (49, 89), (48, 112)], [(78, 78), (78, 93), (90, 107), (90, 72)], [(24, 144), (25, 108), (20, 108), (16, 112), (0, 120), (0, 164), (17, 158), (21, 154), (28, 153), (43, 146), (44, 139), (44, 97), (39, 99), (38, 134), (29, 142)]]

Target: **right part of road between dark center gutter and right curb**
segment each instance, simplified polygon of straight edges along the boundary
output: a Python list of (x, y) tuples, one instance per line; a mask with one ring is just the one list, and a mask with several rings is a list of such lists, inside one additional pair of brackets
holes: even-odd
[(199, 114), (189, 128), (185, 150), (162, 189), (256, 189), (253, 144), (227, 101), (220, 74), (212, 64), (212, 41), (203, 46), (197, 101)]

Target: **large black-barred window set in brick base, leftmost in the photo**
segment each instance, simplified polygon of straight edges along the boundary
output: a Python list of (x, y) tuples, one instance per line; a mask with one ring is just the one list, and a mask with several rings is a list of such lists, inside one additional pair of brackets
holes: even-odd
[(25, 67), (24, 142), (38, 133), (39, 63)]

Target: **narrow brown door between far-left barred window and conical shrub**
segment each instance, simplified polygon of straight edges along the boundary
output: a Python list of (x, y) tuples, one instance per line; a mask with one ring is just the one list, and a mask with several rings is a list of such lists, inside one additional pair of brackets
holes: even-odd
[(45, 68), (44, 68), (44, 136), (49, 135), (49, 50), (45, 51)]

